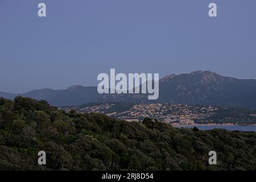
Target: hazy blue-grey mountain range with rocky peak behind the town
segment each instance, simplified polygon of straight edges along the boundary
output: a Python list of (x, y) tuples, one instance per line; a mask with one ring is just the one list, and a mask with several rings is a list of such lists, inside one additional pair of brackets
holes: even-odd
[(73, 85), (64, 90), (40, 89), (22, 94), (0, 92), (0, 97), (16, 96), (46, 100), (54, 106), (82, 105), (89, 102), (168, 102), (173, 104), (220, 105), (256, 109), (256, 80), (224, 77), (210, 71), (168, 75), (159, 81), (159, 99), (147, 94), (99, 94), (97, 86)]

